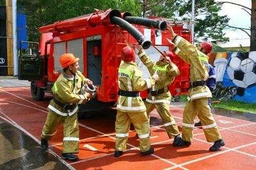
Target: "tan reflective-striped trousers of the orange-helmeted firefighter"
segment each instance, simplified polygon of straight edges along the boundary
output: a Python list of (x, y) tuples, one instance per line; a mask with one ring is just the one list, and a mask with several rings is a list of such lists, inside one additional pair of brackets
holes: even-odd
[(63, 123), (62, 153), (78, 153), (79, 149), (79, 128), (77, 113), (72, 116), (61, 116), (49, 111), (41, 138), (51, 140), (57, 132), (57, 127)]

